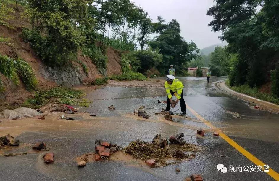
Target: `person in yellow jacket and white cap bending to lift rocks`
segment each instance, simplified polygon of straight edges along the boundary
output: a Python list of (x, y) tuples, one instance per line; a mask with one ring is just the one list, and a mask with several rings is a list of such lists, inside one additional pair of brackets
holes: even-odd
[(170, 102), (172, 96), (175, 95), (176, 103), (180, 100), (180, 108), (182, 114), (186, 114), (186, 105), (183, 95), (183, 84), (180, 80), (176, 79), (173, 75), (167, 75), (167, 81), (165, 82), (165, 88), (167, 92), (167, 108), (165, 111), (170, 111)]

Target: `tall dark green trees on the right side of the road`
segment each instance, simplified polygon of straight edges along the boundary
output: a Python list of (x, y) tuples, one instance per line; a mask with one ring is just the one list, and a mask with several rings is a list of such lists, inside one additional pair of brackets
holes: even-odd
[[(228, 53), (233, 54), (225, 67), (230, 70), (230, 85), (247, 83), (253, 88), (269, 81), (270, 70), (278, 62), (278, 0), (215, 2), (207, 15), (214, 16), (209, 26), (213, 31), (223, 32), (221, 39), (229, 43)], [(276, 76), (274, 79), (278, 81)]]

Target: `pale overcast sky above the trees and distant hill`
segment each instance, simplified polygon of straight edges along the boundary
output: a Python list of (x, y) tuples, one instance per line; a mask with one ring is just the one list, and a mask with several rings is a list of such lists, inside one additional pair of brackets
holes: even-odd
[(153, 21), (162, 16), (166, 22), (172, 19), (180, 23), (181, 36), (187, 42), (193, 40), (198, 48), (221, 43), (221, 32), (214, 33), (207, 24), (213, 19), (206, 15), (207, 9), (214, 5), (213, 0), (132, 0), (141, 6)]

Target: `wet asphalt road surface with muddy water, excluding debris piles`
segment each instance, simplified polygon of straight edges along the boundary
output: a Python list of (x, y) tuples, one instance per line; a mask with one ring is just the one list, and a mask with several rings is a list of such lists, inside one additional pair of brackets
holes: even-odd
[[(218, 90), (214, 84), (207, 84), (206, 78), (178, 77), (184, 84), (186, 104), (212, 125), (224, 133), (249, 153), (279, 172), (279, 115), (250, 109), (249, 104), (228, 96)], [(211, 82), (225, 77), (212, 77)], [(163, 82), (162, 82), (163, 84)], [(103, 87), (89, 93), (93, 102), (84, 111), (96, 112), (100, 119), (81, 120), (90, 122), (87, 128), (56, 131), (26, 131), (19, 136), (21, 142), (46, 142), (54, 152), (55, 161), (45, 165), (43, 153), (19, 155), (15, 157), (0, 156), (0, 180), (183, 180), (193, 173), (201, 174), (204, 180), (273, 180), (265, 172), (229, 172), (229, 166), (252, 166), (249, 159), (221, 137), (212, 136), (212, 130), (199, 121), (191, 112), (192, 119), (174, 118), (174, 123), (160, 121), (136, 120), (126, 116), (139, 106), (146, 106), (151, 120), (157, 120), (158, 112), (165, 104), (164, 88), (121, 88)], [(115, 111), (107, 109), (114, 104)], [(178, 104), (172, 111), (180, 113)], [(234, 112), (234, 114), (232, 113)], [(237, 115), (239, 115), (237, 118)], [(1, 125), (0, 125), (1, 126)], [(196, 129), (203, 128), (203, 138), (196, 136)], [(132, 167), (122, 162), (103, 161), (87, 163), (84, 168), (77, 168), (74, 158), (94, 150), (96, 139), (107, 138), (123, 147), (129, 142), (142, 138), (151, 141), (156, 134), (169, 137), (183, 132), (186, 140), (203, 147), (196, 153), (196, 158), (179, 164), (162, 168)], [(12, 131), (11, 131), (12, 134)], [(20, 151), (28, 151), (28, 147)], [(18, 152), (19, 150), (17, 150)], [(217, 164), (228, 168), (227, 173), (217, 171)], [(181, 172), (176, 174), (175, 168)], [(256, 169), (257, 171), (257, 169)]]

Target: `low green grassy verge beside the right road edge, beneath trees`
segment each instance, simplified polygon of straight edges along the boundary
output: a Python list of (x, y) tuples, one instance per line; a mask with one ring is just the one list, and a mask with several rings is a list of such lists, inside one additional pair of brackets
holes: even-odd
[(226, 80), (226, 85), (231, 89), (239, 93), (246, 94), (248, 96), (255, 97), (264, 101), (268, 101), (274, 104), (279, 104), (279, 98), (271, 93), (260, 92), (257, 87), (251, 88), (248, 84), (240, 86), (230, 86), (229, 80)]

